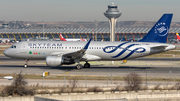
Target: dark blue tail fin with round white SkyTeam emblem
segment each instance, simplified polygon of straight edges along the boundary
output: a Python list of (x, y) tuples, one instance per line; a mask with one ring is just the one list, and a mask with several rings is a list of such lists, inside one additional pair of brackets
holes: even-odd
[(173, 14), (164, 14), (139, 42), (166, 43)]

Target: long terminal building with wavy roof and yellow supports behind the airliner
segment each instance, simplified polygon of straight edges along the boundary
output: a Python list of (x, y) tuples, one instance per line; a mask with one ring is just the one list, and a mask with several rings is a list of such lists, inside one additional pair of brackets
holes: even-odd
[[(143, 38), (151, 28), (116, 28), (115, 40), (137, 41)], [(167, 42), (176, 43), (176, 33), (180, 28), (170, 28)], [(40, 39), (43, 37), (50, 40), (59, 40), (61, 33), (65, 38), (94, 38), (97, 41), (110, 41), (109, 28), (77, 28), (77, 29), (0, 29), (0, 39), (8, 38), (10, 40), (21, 41), (27, 39)], [(96, 40), (95, 40), (96, 41)]]

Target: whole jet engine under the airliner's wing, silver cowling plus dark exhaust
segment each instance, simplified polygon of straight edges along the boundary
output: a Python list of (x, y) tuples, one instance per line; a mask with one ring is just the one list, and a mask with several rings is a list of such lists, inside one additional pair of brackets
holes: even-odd
[(51, 66), (51, 67), (57, 67), (63, 64), (74, 64), (74, 63), (75, 62), (73, 59), (63, 58), (60, 56), (47, 56), (46, 57), (47, 66)]

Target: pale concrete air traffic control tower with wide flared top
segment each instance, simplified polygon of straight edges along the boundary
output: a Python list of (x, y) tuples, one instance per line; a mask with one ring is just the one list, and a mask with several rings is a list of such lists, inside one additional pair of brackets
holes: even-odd
[(110, 41), (115, 41), (115, 26), (117, 18), (121, 16), (121, 12), (117, 9), (117, 6), (112, 3), (108, 5), (108, 10), (104, 12), (104, 15), (109, 19), (110, 23)]

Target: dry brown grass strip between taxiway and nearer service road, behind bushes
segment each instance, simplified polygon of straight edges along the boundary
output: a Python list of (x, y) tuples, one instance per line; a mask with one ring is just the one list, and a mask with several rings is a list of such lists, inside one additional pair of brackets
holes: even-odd
[[(0, 77), (4, 76), (13, 76), (15, 78), (16, 74), (0, 74)], [(26, 79), (42, 79), (42, 75), (38, 74), (23, 74)], [(85, 75), (65, 75), (66, 80), (73, 80), (77, 78), (78, 80), (85, 80)], [(113, 81), (124, 81), (124, 76), (112, 76)], [(141, 76), (142, 77), (142, 76)], [(108, 76), (109, 80), (111, 80), (111, 76)], [(64, 75), (49, 75), (44, 77), (47, 80), (64, 80)], [(98, 76), (98, 75), (87, 75), (87, 80), (107, 80), (107, 76)], [(143, 81), (146, 81), (146, 77), (142, 77)], [(169, 81), (170, 77), (147, 77), (148, 81)], [(179, 77), (171, 77), (171, 81), (180, 81)]]

